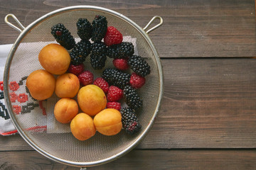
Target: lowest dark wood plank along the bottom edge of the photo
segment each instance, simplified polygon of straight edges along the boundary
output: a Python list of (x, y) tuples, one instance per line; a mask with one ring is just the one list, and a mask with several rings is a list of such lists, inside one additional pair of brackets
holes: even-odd
[[(256, 169), (255, 150), (134, 149), (114, 162), (87, 169)], [(78, 169), (51, 161), (35, 151), (1, 152), (0, 169)]]

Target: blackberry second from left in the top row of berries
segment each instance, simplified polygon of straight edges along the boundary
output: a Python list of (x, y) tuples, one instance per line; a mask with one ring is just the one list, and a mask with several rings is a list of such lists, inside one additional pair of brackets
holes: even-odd
[(92, 24), (87, 18), (79, 18), (77, 22), (78, 36), (82, 40), (90, 40), (92, 37)]

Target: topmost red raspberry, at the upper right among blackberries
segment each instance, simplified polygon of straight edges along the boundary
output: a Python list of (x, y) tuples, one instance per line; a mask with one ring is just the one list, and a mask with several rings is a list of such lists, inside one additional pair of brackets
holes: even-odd
[(109, 26), (107, 27), (107, 33), (105, 35), (104, 42), (107, 46), (119, 44), (122, 42), (122, 33), (120, 33), (117, 28)]

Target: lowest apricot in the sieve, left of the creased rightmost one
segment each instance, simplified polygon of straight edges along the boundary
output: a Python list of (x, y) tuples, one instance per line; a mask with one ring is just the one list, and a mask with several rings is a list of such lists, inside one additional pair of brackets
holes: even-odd
[(70, 129), (78, 140), (87, 140), (96, 133), (92, 118), (85, 113), (79, 113), (71, 120)]

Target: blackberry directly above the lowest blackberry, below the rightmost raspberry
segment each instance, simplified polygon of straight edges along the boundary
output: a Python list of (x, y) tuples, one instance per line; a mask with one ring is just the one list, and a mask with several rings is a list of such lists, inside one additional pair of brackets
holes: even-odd
[(132, 86), (125, 86), (123, 93), (124, 101), (127, 103), (127, 106), (134, 110), (142, 107), (142, 98), (137, 94), (137, 91), (135, 91)]

